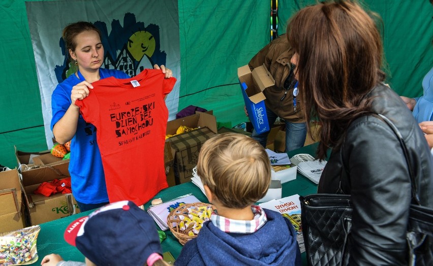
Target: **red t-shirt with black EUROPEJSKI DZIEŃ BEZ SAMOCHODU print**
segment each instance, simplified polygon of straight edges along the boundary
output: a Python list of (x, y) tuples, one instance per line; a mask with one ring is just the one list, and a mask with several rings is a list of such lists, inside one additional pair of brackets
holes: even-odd
[(92, 83), (80, 107), (97, 128), (110, 202), (143, 205), (168, 187), (164, 143), (168, 110), (164, 102), (176, 82), (161, 70), (144, 70), (130, 79), (109, 77)]

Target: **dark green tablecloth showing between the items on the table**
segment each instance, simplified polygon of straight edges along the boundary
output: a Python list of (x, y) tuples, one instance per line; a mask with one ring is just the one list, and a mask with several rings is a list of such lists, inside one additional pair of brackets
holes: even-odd
[[(289, 157), (292, 157), (298, 153), (308, 153), (314, 154), (317, 148), (317, 144), (312, 144), (309, 146), (305, 146), (303, 148), (294, 150), (289, 152)], [(295, 180), (289, 181), (283, 184), (283, 197), (290, 196), (293, 194), (299, 195), (307, 195), (317, 192), (317, 185), (303, 177), (300, 174), (297, 174)], [(155, 198), (161, 197), (163, 202), (169, 201), (172, 198), (186, 195), (192, 193), (195, 195), (200, 201), (204, 203), (208, 203), (206, 196), (201, 192), (201, 190), (191, 182), (177, 185), (174, 187), (166, 188), (160, 191)], [(145, 208), (149, 207), (150, 202), (145, 204)], [(84, 261), (84, 256), (78, 251), (77, 248), (70, 246), (67, 244), (63, 238), (64, 231), (66, 227), (75, 219), (78, 219), (81, 216), (88, 215), (92, 211), (75, 214), (69, 217), (61, 218), (58, 220), (50, 221), (41, 224), (41, 231), (37, 240), (37, 250), (39, 253), (39, 260), (35, 265), (40, 265), (42, 258), (45, 255), (51, 253), (60, 254), (65, 260), (75, 260), (75, 261)], [(159, 229), (158, 225), (155, 226)], [(174, 258), (177, 258), (180, 254), (180, 250), (182, 245), (179, 244), (177, 239), (171, 234), (170, 230), (166, 231), (167, 239), (164, 240), (161, 244), (163, 252), (170, 251)], [(305, 262), (305, 253), (302, 253), (303, 264)]]

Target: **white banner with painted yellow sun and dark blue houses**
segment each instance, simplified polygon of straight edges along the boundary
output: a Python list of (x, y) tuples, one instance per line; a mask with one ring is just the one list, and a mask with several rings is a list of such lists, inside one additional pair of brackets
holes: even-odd
[(75, 72), (61, 38), (63, 28), (88, 21), (102, 32), (103, 68), (135, 76), (153, 64), (164, 64), (177, 78), (166, 104), (175, 119), (180, 88), (179, 20), (177, 1), (63, 0), (25, 2), (42, 101), (45, 136), (51, 148), (51, 94)]

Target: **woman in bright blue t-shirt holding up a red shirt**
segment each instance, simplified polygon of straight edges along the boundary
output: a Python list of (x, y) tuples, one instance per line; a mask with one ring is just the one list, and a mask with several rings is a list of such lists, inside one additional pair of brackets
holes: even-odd
[[(64, 28), (63, 40), (65, 50), (78, 71), (59, 83), (53, 91), (51, 130), (60, 144), (72, 140), (69, 164), (72, 193), (83, 212), (106, 205), (109, 201), (96, 128), (84, 121), (75, 101), (91, 93), (92, 82), (108, 77), (130, 77), (122, 71), (101, 68), (104, 47), (101, 32), (95, 25), (84, 21), (72, 23)], [(161, 69), (166, 78), (173, 76), (164, 65), (161, 68), (154, 65), (154, 69)]]

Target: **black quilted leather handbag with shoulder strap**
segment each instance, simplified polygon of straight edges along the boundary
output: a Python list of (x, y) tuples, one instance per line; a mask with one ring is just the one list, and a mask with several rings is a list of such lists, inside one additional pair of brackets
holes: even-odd
[[(414, 174), (406, 144), (395, 125), (379, 115), (394, 131), (404, 151), (412, 184)], [(406, 239), (409, 265), (433, 265), (433, 209), (420, 206), (416, 187), (412, 196)], [(299, 197), (302, 234), (308, 265), (348, 265), (353, 205), (350, 195), (312, 194)]]

